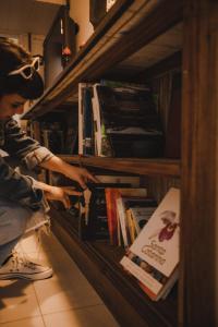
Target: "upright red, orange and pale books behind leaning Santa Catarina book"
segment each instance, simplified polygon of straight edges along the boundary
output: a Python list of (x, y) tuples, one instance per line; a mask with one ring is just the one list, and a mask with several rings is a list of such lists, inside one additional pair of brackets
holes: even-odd
[(110, 243), (123, 244), (125, 249), (134, 242), (141, 229), (157, 206), (142, 187), (107, 187), (106, 205)]

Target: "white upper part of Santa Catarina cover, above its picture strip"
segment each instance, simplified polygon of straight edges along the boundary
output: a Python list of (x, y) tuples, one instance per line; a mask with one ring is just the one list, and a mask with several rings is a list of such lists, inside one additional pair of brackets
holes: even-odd
[(130, 251), (169, 277), (179, 263), (180, 191), (171, 187)]

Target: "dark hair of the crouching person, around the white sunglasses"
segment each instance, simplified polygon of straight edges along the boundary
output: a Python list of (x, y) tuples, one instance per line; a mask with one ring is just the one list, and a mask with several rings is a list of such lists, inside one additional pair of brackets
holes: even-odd
[(8, 75), (11, 71), (32, 62), (32, 56), (22, 46), (0, 37), (0, 97), (19, 94), (26, 99), (36, 99), (44, 93), (44, 82), (37, 71), (25, 80), (21, 75)]

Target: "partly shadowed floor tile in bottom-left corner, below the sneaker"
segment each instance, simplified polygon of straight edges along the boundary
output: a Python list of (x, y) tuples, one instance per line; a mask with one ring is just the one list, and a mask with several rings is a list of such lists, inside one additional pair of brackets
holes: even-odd
[(0, 281), (0, 323), (39, 315), (33, 283), (25, 280)]

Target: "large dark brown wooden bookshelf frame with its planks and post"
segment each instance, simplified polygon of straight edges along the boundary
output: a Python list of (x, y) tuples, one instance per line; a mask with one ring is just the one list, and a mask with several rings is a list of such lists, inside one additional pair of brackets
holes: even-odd
[[(120, 250), (82, 242), (70, 217), (52, 209), (55, 233), (121, 326), (217, 326), (217, 22), (218, 2), (213, 0), (118, 0), (23, 117), (41, 119), (72, 98), (75, 102), (80, 82), (101, 77), (143, 82), (168, 69), (182, 72), (180, 160), (61, 156), (72, 165), (147, 175), (152, 182), (180, 180), (179, 287), (158, 303), (121, 271)], [(157, 186), (160, 193), (166, 191), (161, 180)]]

